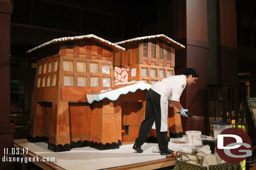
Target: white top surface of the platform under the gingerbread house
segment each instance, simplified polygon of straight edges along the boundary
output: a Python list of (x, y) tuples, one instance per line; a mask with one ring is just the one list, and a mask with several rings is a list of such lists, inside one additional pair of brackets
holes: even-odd
[[(188, 143), (177, 144), (173, 141), (186, 142), (186, 137), (171, 138), (169, 149), (178, 151), (183, 147), (188, 147)], [(17, 144), (18, 142), (16, 142)], [(144, 143), (141, 149), (143, 153), (135, 152), (131, 145), (122, 145), (119, 149), (113, 150), (97, 150), (91, 147), (73, 148), (67, 152), (52, 152), (48, 150), (48, 144), (44, 142), (36, 143), (21, 143), (21, 147), (29, 148), (40, 157), (55, 157), (55, 162), (52, 162), (66, 170), (99, 170), (104, 168), (119, 167), (131, 165), (152, 160), (166, 159), (165, 155), (152, 152), (158, 150), (156, 143)]]

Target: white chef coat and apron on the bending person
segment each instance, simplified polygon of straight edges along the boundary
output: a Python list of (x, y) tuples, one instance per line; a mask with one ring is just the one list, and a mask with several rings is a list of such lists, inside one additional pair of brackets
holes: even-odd
[[(160, 132), (166, 132), (168, 128), (168, 103), (169, 100), (180, 101), (180, 95), (186, 87), (186, 76), (169, 76), (162, 81), (157, 81), (151, 89), (161, 95), (161, 129)], [(155, 129), (155, 122), (153, 124)]]

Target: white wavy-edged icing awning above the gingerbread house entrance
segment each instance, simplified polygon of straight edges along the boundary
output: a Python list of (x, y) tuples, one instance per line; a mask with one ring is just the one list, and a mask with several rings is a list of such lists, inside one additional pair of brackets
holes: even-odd
[[(99, 94), (86, 94), (87, 101), (89, 102), (89, 104), (91, 104), (93, 101), (100, 101), (104, 98), (115, 101), (118, 99), (118, 97), (121, 94), (127, 94), (128, 92), (135, 92), (138, 89), (149, 90), (149, 88), (151, 87), (150, 84), (144, 83), (143, 81), (136, 81), (133, 83), (136, 83), (136, 84), (131, 84), (129, 86), (124, 86), (119, 89), (109, 90), (109, 91), (99, 93)], [(127, 83), (127, 84), (129, 84), (129, 83)]]

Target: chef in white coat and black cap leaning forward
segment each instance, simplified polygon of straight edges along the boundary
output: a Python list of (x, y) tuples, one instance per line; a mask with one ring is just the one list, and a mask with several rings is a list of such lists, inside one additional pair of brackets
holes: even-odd
[(157, 132), (157, 143), (161, 155), (169, 155), (172, 150), (168, 149), (168, 104), (172, 104), (180, 110), (182, 116), (188, 117), (180, 104), (180, 95), (186, 87), (191, 85), (199, 78), (198, 72), (193, 68), (185, 68), (182, 75), (169, 76), (155, 83), (146, 95), (145, 119), (141, 123), (138, 138), (135, 140), (133, 149), (142, 153), (141, 145), (144, 144), (153, 124)]

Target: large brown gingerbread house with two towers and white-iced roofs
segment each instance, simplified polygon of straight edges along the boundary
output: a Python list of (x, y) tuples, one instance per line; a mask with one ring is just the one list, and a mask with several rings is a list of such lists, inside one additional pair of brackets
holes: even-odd
[[(164, 35), (114, 44), (91, 34), (54, 39), (27, 51), (38, 58), (28, 140), (47, 141), (55, 152), (134, 142), (150, 84), (174, 74), (174, 49), (183, 47)], [(170, 61), (165, 58), (169, 52)], [(181, 122), (174, 117), (179, 114), (170, 107), (170, 128), (178, 134)]]

